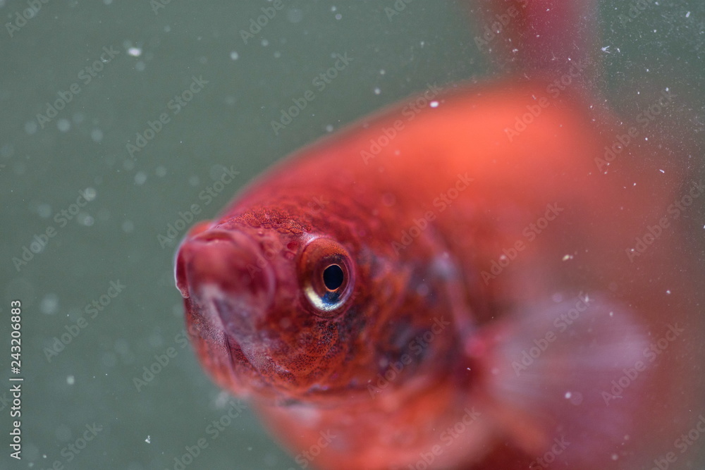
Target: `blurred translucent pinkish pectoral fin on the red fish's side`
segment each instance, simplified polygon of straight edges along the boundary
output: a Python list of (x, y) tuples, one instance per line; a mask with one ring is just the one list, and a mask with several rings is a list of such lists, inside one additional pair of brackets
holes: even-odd
[(486, 328), (467, 353), (498, 428), (525, 452), (608, 468), (635, 431), (630, 416), (650, 373), (646, 346), (625, 307), (579, 295)]

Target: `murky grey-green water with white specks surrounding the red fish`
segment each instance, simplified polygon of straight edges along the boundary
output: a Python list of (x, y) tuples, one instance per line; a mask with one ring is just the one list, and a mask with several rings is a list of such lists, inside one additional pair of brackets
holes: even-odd
[[(247, 408), (216, 438), (207, 432), (230, 405), (180, 336), (176, 245), (163, 247), (158, 236), (192, 204), (198, 218), (214, 216), (264, 168), (331, 130), (429, 84), (486, 77), (489, 61), (474, 42), (480, 25), (468, 26), (464, 2), (415, 0), (388, 17), (391, 0), (284, 1), (245, 44), (241, 31), (271, 2), (35, 3), (41, 8), (23, 23), (16, 14), (27, 1), (0, 0), (0, 364), (8, 383), (7, 316), (11, 299), (21, 299), (25, 377), (23, 460), (8, 457), (10, 419), (0, 403), (0, 468), (44, 469), (57, 460), (76, 469), (173, 468), (201, 438), (208, 447), (187, 468), (298, 468)], [(620, 15), (631, 3), (601, 3), (606, 92), (629, 114), (640, 87), (687, 89), (687, 104), (668, 125), (674, 137), (701, 144), (705, 6), (647, 3), (627, 23)], [(106, 49), (117, 54), (90, 76), (85, 68)], [(275, 135), (271, 120), (316, 89), (312, 80), (333, 66), (334, 54), (346, 53), (353, 61)], [(176, 113), (170, 101), (194, 78), (205, 81), (202, 89)], [(77, 85), (55, 117), (37, 118)], [(128, 142), (137, 143), (150, 121), (159, 128), (161, 113), (168, 122), (133, 158)], [(695, 155), (692, 166), (703, 161)], [(239, 174), (206, 204), (200, 194), (231, 166)], [(55, 214), (81, 191), (90, 201), (63, 225)], [(47, 246), (15, 266), (23, 247), (50, 228), (56, 235)], [(87, 314), (111, 281), (125, 287)], [(80, 317), (85, 328), (47, 357)], [(137, 387), (142, 368), (168, 348), (168, 365)], [(66, 450), (93, 423), (102, 431), (87, 447)]]

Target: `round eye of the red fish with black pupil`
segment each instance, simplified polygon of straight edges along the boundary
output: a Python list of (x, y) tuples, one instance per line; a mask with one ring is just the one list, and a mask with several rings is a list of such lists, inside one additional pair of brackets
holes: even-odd
[(338, 242), (314, 238), (301, 252), (299, 279), (314, 314), (336, 314), (353, 292), (354, 276), (353, 260)]

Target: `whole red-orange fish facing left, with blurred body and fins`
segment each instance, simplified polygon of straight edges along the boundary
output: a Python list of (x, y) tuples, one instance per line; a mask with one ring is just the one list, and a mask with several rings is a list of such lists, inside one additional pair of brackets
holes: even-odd
[(591, 35), (565, 41), (577, 4), (494, 2), (528, 78), (365, 118), (180, 245), (204, 369), (303, 468), (642, 468), (687, 431), (682, 172), (637, 142), (601, 166), (623, 130), (588, 90)]

